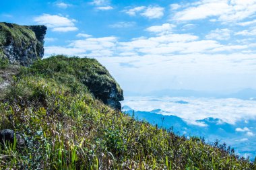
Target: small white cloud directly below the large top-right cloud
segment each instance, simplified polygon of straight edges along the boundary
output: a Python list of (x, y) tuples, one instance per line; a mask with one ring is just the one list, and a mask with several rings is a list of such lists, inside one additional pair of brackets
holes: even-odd
[(230, 38), (230, 30), (228, 29), (216, 29), (212, 30), (209, 34), (205, 36), (206, 39), (215, 40), (228, 40)]

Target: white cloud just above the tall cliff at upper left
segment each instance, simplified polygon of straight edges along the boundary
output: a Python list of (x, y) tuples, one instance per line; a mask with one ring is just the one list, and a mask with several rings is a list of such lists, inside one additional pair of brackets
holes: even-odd
[(55, 32), (69, 32), (78, 30), (74, 24), (74, 22), (76, 22), (75, 19), (69, 19), (60, 15), (50, 15), (44, 13), (38, 17), (34, 17), (34, 22), (45, 25), (48, 28), (52, 28), (52, 30)]

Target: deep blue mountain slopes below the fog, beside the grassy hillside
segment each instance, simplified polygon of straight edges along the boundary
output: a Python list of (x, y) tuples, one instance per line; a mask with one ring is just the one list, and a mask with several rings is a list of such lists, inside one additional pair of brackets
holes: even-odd
[[(239, 94), (239, 93), (238, 93)], [(243, 96), (242, 96), (243, 97)], [(134, 116), (137, 120), (146, 121), (158, 127), (171, 129), (179, 135), (203, 136), (206, 142), (225, 141), (231, 145), (241, 155), (250, 155), (251, 160), (256, 156), (255, 134), (256, 120), (241, 120), (236, 124), (228, 124), (218, 118), (204, 118), (197, 120), (196, 124), (189, 124), (187, 121), (173, 115), (162, 115), (164, 110), (156, 109), (150, 112), (136, 111), (127, 105), (123, 106), (123, 112), (129, 116)], [(246, 128), (248, 127), (248, 128)]]

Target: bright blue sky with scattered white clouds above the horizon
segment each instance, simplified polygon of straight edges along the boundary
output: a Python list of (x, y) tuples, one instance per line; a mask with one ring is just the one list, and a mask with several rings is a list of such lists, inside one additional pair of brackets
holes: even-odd
[(96, 58), (124, 91), (256, 89), (256, 0), (1, 0), (0, 22), (47, 26), (44, 58)]

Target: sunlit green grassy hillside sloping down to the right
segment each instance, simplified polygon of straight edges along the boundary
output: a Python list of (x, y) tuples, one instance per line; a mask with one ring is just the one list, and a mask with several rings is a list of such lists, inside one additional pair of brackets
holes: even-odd
[(104, 105), (84, 83), (114, 81), (103, 70), (65, 56), (22, 67), (1, 99), (0, 130), (26, 144), (1, 145), (0, 169), (255, 169), (225, 144), (188, 140)]

